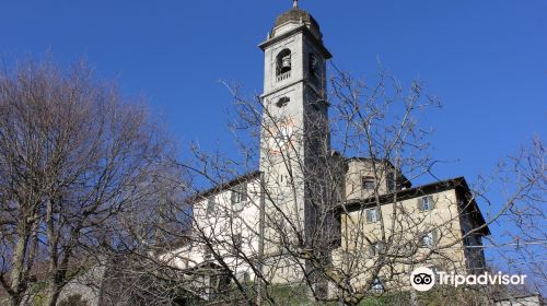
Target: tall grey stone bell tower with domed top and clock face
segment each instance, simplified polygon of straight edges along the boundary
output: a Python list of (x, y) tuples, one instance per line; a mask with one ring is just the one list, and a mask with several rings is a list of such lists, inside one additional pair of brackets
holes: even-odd
[[(267, 192), (266, 240), (305, 248), (317, 237), (321, 203), (312, 198), (326, 192), (317, 178), (324, 177), (330, 152), (325, 89), (331, 55), (318, 23), (298, 1), (276, 20), (259, 47), (265, 54), (260, 170)], [(282, 252), (275, 244), (265, 251)]]

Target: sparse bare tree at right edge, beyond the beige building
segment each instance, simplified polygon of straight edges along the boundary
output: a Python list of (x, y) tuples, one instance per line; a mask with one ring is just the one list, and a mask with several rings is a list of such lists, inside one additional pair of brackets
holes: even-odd
[(545, 195), (547, 175), (545, 148), (535, 137), (517, 153), (502, 160), (489, 176), (482, 176), (478, 195), (489, 205), (490, 199), (501, 199), (505, 207), (496, 223), (502, 225), (500, 237), (489, 240), (486, 248), (496, 256), (492, 266), (505, 272), (526, 274), (529, 283), (521, 292), (547, 293), (547, 232)]

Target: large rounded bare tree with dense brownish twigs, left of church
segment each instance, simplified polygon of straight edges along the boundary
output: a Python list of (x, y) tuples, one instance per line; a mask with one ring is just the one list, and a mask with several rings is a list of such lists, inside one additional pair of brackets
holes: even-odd
[(74, 275), (117, 248), (113, 226), (164, 190), (171, 153), (143, 102), (83, 63), (28, 60), (2, 71), (0, 281), (10, 305), (36, 292), (56, 305)]

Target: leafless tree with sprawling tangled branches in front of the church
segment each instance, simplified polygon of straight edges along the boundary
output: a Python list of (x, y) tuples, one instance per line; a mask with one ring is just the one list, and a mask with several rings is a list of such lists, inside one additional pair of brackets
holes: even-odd
[[(231, 127), (242, 158), (193, 146), (195, 160), (182, 166), (195, 181), (213, 188), (203, 191), (197, 184), (187, 203), (171, 203), (185, 213), (171, 214), (167, 223), (191, 226), (186, 233), (160, 231), (184, 243), (154, 247), (156, 264), (185, 275), (188, 292), (206, 304), (431, 302), (445, 294), (409, 295), (416, 267), (486, 271), (481, 238), (489, 225), (511, 211), (515, 198), (543, 202), (531, 193), (543, 188), (537, 160), (527, 164), (535, 178), (512, 181), (509, 197), (484, 214), (480, 189), (464, 178), (438, 179), (439, 161), (428, 150), (431, 129), (419, 118), (440, 102), (419, 82), (405, 92), (385, 71), (374, 83), (336, 71), (329, 103), (309, 105), (318, 113), (328, 105), (330, 119), (310, 113), (303, 129), (279, 109), (271, 111), (272, 104), (282, 109), (283, 102), (247, 99), (237, 86), (228, 87), (235, 98)], [(534, 152), (515, 162), (531, 161)], [(265, 163), (277, 170), (257, 170)], [(410, 186), (424, 178), (434, 181)], [(455, 303), (488, 303), (488, 290), (473, 290), (476, 294), (454, 291), (459, 294)]]

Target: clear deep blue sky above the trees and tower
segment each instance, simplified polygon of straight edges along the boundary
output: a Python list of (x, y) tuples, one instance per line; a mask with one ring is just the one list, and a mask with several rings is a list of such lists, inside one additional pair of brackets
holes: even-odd
[[(547, 1), (302, 0), (334, 62), (358, 76), (380, 58), (404, 84), (419, 78), (444, 108), (435, 127), (443, 177), (474, 180), (500, 157), (545, 138)], [(0, 56), (50, 50), (68, 63), (85, 57), (124, 93), (146, 95), (181, 144), (229, 148), (229, 92), (219, 80), (261, 92), (257, 45), (290, 0), (2, 1)]]

